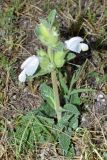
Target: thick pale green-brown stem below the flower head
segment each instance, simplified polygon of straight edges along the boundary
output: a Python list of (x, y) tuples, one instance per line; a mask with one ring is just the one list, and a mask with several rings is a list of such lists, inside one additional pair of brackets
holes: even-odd
[(56, 71), (51, 72), (51, 79), (53, 85), (53, 92), (54, 92), (54, 101), (55, 101), (55, 111), (57, 114), (58, 121), (61, 119), (61, 108), (60, 108), (60, 100), (59, 100), (59, 93), (58, 93), (58, 86), (57, 86), (57, 76)]

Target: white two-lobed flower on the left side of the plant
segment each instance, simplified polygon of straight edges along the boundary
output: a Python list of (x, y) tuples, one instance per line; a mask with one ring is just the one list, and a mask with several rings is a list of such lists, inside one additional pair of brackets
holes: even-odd
[(27, 76), (32, 76), (39, 66), (39, 58), (35, 55), (27, 58), (21, 65), (22, 72), (18, 79), (20, 82), (25, 82)]

